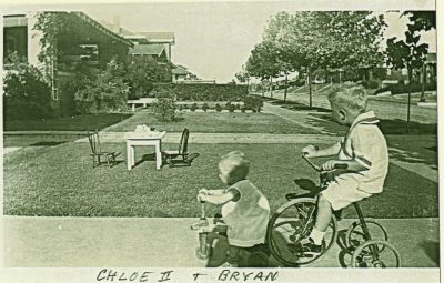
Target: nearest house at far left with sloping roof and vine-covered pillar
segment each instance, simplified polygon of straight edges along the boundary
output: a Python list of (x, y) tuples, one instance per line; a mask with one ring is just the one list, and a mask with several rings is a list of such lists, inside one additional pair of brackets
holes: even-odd
[[(97, 69), (105, 65), (114, 55), (128, 54), (133, 43), (103, 27), (83, 12), (56, 12), (64, 20), (64, 29), (58, 36), (58, 58), (50, 60), (51, 107), (59, 114), (71, 114), (74, 110), (74, 93), (68, 83), (80, 63)], [(3, 17), (3, 65), (8, 69), (9, 58), (17, 53), (30, 64), (41, 64), (42, 33), (34, 30), (37, 12)]]

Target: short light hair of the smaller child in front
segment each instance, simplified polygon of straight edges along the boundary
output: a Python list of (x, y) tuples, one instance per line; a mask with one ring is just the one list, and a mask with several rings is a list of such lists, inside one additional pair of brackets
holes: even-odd
[(250, 171), (250, 161), (240, 151), (232, 151), (223, 155), (219, 164), (228, 170), (233, 183), (244, 180)]

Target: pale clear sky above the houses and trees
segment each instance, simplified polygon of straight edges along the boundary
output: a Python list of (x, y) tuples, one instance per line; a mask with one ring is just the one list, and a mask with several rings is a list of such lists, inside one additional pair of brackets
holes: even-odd
[[(246, 62), (254, 44), (261, 42), (263, 29), (271, 16), (279, 11), (293, 13), (302, 9), (337, 10), (337, 4), (316, 6), (316, 2), (320, 0), (114, 2), (67, 6), (65, 9), (81, 10), (95, 20), (109, 22), (113, 22), (119, 16), (120, 26), (133, 32), (172, 31), (175, 34), (175, 46), (172, 47), (173, 63), (186, 67), (201, 79), (228, 82)], [(372, 3), (374, 2), (377, 3), (375, 0)], [(369, 4), (364, 8), (386, 11), (394, 10), (393, 8), (398, 6), (384, 2), (384, 6)], [(51, 9), (54, 7), (52, 6)], [(410, 7), (403, 2), (400, 8)], [(387, 38), (403, 34), (406, 19), (400, 19), (398, 12), (386, 13), (386, 21), (389, 23)], [(430, 52), (436, 50), (435, 37), (434, 31), (423, 37), (431, 46)]]

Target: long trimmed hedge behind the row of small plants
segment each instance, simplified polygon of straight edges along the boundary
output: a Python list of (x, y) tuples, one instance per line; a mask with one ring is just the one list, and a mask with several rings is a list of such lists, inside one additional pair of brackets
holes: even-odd
[(157, 83), (150, 93), (175, 101), (243, 101), (246, 94), (246, 85), (199, 83)]

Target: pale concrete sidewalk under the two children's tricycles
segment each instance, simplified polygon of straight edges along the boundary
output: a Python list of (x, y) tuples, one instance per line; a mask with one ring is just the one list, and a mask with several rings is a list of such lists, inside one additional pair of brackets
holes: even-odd
[[(191, 218), (4, 216), (3, 264), (6, 267), (202, 267), (206, 262), (195, 257), (198, 235), (190, 230), (195, 221)], [(340, 221), (340, 232), (351, 222)], [(437, 219), (377, 222), (385, 226), (390, 242), (398, 249), (404, 267), (438, 266)], [(350, 261), (349, 255), (342, 254), (335, 244), (310, 266), (341, 267), (341, 261)]]

